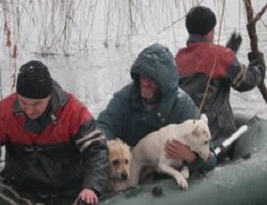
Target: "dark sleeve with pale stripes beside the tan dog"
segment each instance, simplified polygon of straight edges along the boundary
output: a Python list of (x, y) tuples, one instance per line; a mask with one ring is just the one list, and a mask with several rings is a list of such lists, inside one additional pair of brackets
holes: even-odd
[(92, 189), (98, 195), (108, 190), (109, 151), (105, 136), (92, 120), (84, 125), (76, 140), (82, 154), (83, 188)]

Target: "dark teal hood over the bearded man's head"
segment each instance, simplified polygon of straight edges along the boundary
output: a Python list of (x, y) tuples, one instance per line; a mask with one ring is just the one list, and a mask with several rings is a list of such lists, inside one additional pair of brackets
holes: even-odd
[(161, 92), (161, 99), (177, 93), (178, 73), (173, 54), (163, 45), (153, 44), (142, 50), (131, 68), (131, 77), (139, 86), (140, 77), (154, 80)]

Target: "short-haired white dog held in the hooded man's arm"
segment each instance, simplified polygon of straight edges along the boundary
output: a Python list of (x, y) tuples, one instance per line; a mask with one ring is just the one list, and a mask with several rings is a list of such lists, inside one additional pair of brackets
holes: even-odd
[(192, 152), (207, 160), (209, 156), (210, 131), (207, 126), (207, 118), (202, 114), (200, 119), (189, 119), (182, 124), (171, 124), (160, 128), (158, 131), (146, 135), (132, 150), (130, 165), (130, 177), (125, 187), (138, 184), (142, 168), (150, 167), (160, 173), (173, 176), (177, 184), (183, 189), (188, 188), (185, 178), (189, 177), (188, 168), (179, 172), (175, 168), (181, 168), (182, 160), (166, 159), (165, 144), (169, 139), (175, 139), (188, 145)]

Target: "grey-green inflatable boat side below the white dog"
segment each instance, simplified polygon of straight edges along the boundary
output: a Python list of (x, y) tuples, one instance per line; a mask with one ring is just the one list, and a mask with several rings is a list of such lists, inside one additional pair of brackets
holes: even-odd
[(267, 120), (256, 120), (247, 136), (247, 158), (229, 161), (203, 174), (195, 173), (182, 190), (165, 177), (101, 198), (101, 205), (265, 205), (267, 204)]

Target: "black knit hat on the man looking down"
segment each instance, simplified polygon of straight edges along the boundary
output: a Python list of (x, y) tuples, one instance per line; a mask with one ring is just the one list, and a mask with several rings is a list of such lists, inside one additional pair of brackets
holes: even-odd
[(44, 99), (53, 90), (53, 79), (41, 61), (28, 61), (20, 67), (17, 93), (31, 99)]

